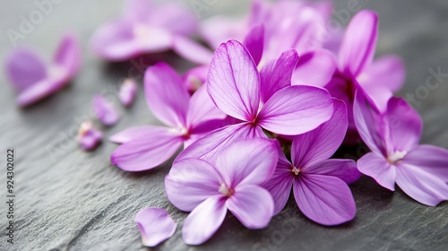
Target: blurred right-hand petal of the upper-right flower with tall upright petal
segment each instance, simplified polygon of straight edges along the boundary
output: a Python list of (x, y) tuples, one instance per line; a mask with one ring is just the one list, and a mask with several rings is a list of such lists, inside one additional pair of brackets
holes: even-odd
[(383, 85), (391, 91), (400, 91), (406, 71), (399, 56), (389, 55), (376, 59), (357, 77), (363, 86)]

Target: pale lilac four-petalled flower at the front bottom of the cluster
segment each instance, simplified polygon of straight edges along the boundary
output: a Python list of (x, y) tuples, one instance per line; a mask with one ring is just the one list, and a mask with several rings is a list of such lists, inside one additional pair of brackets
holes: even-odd
[(220, 228), (227, 211), (246, 228), (262, 229), (271, 221), (274, 203), (261, 185), (269, 180), (278, 160), (268, 139), (246, 139), (220, 151), (215, 162), (180, 160), (165, 178), (168, 199), (186, 217), (182, 235), (199, 245)]

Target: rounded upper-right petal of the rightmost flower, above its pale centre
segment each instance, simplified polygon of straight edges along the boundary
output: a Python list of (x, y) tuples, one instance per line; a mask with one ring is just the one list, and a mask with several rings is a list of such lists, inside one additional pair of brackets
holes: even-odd
[(423, 122), (418, 112), (406, 100), (402, 98), (389, 100), (386, 118), (395, 151), (409, 151), (418, 145)]

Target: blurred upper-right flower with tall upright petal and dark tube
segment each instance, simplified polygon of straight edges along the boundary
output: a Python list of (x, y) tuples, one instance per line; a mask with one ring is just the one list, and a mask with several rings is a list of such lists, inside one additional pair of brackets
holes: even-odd
[(405, 70), (397, 56), (383, 56), (373, 61), (378, 33), (378, 17), (372, 11), (356, 14), (346, 30), (339, 52), (339, 69), (325, 88), (332, 96), (344, 100), (349, 111), (349, 131), (346, 143), (358, 139), (353, 120), (355, 92), (361, 88), (384, 110), (392, 91), (399, 91)]

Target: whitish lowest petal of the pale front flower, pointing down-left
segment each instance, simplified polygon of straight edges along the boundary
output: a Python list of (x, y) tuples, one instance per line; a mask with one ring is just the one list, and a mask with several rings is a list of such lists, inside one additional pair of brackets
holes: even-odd
[(226, 198), (212, 196), (200, 203), (186, 217), (182, 228), (182, 238), (187, 245), (200, 245), (220, 228), (226, 217)]

